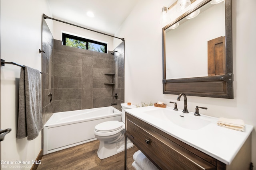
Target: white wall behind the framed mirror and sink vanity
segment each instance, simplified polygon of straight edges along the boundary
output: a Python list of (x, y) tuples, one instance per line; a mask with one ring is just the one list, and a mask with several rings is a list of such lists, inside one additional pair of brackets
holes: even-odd
[[(125, 38), (125, 102), (162, 101), (173, 107), (177, 95), (162, 94), (162, 6), (168, 0), (140, 0), (116, 36)], [(202, 114), (243, 119), (256, 126), (255, 0), (232, 0), (234, 99), (188, 97), (188, 110), (208, 107)], [(180, 67), (180, 69), (186, 69)], [(177, 101), (178, 102), (178, 101)], [(183, 101), (178, 102), (183, 109)], [(235, 141), (234, 141), (235, 142)], [(252, 162), (256, 165), (256, 131), (252, 132)]]

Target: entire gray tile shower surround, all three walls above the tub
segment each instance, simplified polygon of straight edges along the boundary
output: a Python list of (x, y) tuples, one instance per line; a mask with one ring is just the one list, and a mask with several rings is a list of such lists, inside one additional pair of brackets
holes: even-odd
[[(54, 112), (110, 106), (124, 102), (124, 42), (114, 51), (99, 53), (62, 45), (54, 40), (43, 19), (43, 123)], [(109, 75), (106, 73), (115, 73)], [(52, 93), (50, 102), (49, 93)], [(114, 99), (115, 93), (118, 98)]]

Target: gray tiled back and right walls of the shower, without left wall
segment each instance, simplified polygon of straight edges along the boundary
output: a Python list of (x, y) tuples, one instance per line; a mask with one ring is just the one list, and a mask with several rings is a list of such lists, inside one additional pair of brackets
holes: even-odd
[[(120, 70), (124, 62), (121, 59), (118, 62), (120, 57), (124, 59), (124, 53), (119, 56), (110, 53), (67, 47), (54, 40), (55, 112), (105, 107), (124, 101), (124, 71)], [(114, 76), (105, 74), (113, 71)], [(114, 85), (110, 84), (113, 82)], [(115, 92), (120, 95), (117, 100), (113, 99)]]

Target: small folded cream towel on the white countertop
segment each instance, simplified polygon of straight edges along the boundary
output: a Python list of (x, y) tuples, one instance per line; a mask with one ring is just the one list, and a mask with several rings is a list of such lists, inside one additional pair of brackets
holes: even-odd
[(244, 121), (241, 119), (227, 119), (220, 117), (218, 120), (218, 125), (222, 127), (227, 127), (237, 131), (244, 131)]

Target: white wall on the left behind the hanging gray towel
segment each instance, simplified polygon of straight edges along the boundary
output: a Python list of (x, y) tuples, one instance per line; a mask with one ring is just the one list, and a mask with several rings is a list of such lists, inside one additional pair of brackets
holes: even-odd
[[(46, 0), (1, 0), (1, 59), (41, 70), (42, 14), (51, 16)], [(51, 24), (50, 24), (51, 25)], [(1, 160), (14, 161), (8, 169), (30, 169), (41, 150), (41, 133), (32, 140), (16, 139), (18, 114), (18, 79), (20, 67), (11, 64), (1, 67), (1, 129), (11, 128), (1, 142)], [(15, 161), (30, 161), (16, 164)], [(15, 168), (15, 166), (21, 166)]]

